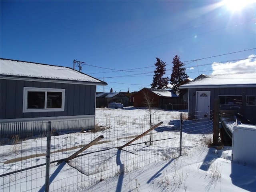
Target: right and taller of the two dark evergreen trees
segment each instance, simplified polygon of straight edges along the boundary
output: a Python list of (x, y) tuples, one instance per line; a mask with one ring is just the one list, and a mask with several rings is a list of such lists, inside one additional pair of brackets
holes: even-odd
[(180, 90), (177, 85), (188, 78), (186, 74), (186, 68), (184, 68), (184, 63), (180, 61), (180, 57), (175, 55), (172, 60), (173, 68), (170, 82), (172, 84), (172, 90), (176, 95), (180, 94)]

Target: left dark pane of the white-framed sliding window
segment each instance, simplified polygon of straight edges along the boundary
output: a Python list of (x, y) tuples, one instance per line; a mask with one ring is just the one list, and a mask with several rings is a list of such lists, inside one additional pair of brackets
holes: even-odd
[(28, 91), (28, 109), (44, 109), (45, 92)]

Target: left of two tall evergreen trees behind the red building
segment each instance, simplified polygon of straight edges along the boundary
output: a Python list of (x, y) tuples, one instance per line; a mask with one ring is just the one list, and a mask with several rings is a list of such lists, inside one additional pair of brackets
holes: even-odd
[(164, 89), (167, 88), (169, 78), (163, 77), (166, 71), (166, 64), (160, 58), (156, 58), (156, 69), (154, 70), (153, 82), (151, 88)]

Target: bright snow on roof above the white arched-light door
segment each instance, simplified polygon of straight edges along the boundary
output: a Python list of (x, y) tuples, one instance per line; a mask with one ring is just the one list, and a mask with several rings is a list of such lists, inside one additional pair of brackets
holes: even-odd
[(256, 87), (256, 73), (200, 75), (192, 82), (179, 86), (182, 88), (206, 87)]

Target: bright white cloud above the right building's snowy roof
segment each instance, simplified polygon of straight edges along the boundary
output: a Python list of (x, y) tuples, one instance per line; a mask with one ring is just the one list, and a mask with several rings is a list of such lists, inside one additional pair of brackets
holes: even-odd
[(235, 62), (212, 64), (212, 75), (234, 73), (256, 73), (256, 55)]

